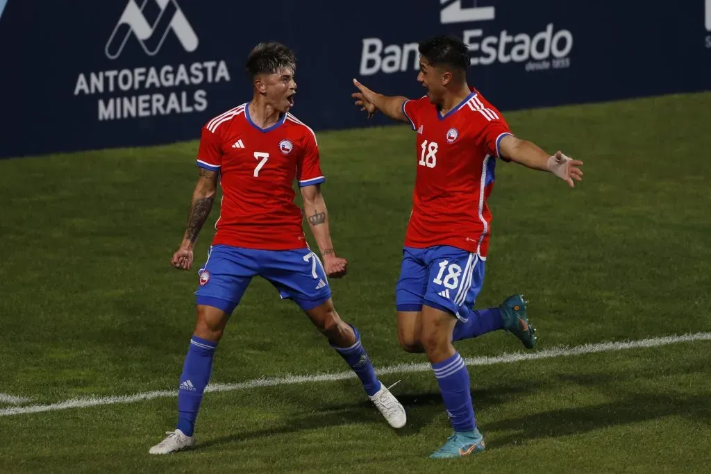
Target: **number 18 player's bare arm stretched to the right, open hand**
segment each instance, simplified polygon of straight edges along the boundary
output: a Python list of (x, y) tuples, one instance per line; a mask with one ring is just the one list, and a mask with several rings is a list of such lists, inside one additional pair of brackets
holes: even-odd
[(567, 181), (571, 188), (575, 187), (573, 180), (582, 181), (582, 171), (579, 168), (582, 161), (572, 160), (560, 151), (550, 156), (531, 141), (506, 135), (499, 144), (499, 153), (503, 158), (528, 168), (550, 171), (563, 181)]

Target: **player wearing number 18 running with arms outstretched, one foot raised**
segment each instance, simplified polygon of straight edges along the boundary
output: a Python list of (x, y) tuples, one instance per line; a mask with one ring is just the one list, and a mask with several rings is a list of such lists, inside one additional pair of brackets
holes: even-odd
[(550, 155), (516, 138), (481, 93), (466, 82), (469, 50), (458, 38), (436, 36), (419, 45), (420, 99), (376, 94), (357, 80), (355, 104), (371, 117), (380, 110), (417, 132), (417, 178), (397, 283), (397, 336), (407, 352), (427, 354), (454, 434), (433, 458), (483, 451), (469, 392), (469, 372), (452, 345), (504, 329), (535, 345), (526, 302), (513, 295), (498, 308), (474, 311), (483, 283), (496, 161), (549, 171), (571, 188), (581, 161)]

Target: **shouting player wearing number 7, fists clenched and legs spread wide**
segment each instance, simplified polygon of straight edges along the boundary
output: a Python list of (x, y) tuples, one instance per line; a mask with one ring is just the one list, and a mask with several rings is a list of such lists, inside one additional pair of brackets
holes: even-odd
[[(292, 299), (353, 369), (387, 422), (405, 425), (405, 409), (380, 383), (360, 334), (336, 313), (328, 276), (346, 274), (346, 259), (336, 256), (328, 228), (314, 131), (296, 119), (296, 59), (286, 46), (260, 43), (247, 58), (253, 86), (251, 102), (211, 119), (198, 148), (198, 183), (188, 226), (171, 260), (178, 269), (193, 265), (193, 247), (223, 188), (217, 232), (208, 259), (198, 272), (197, 322), (178, 388), (178, 423), (151, 454), (167, 454), (195, 444), (194, 424), (210, 379), (213, 354), (225, 325), (250, 284), (262, 276)], [(306, 244), (301, 210), (294, 204), (294, 181), (324, 264)]]

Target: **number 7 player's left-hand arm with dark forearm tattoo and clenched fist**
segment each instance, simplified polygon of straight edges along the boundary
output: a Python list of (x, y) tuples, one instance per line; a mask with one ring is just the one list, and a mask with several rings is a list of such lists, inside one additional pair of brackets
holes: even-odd
[(218, 189), (218, 172), (200, 168), (198, 183), (193, 191), (193, 200), (188, 213), (188, 225), (178, 252), (173, 254), (171, 263), (178, 269), (189, 270), (193, 266), (193, 247), (198, 234), (213, 208)]

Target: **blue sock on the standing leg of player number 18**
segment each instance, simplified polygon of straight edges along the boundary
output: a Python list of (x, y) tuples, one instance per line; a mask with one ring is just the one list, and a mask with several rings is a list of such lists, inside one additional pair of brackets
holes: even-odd
[(432, 364), (432, 370), (454, 431), (471, 434), (476, 429), (476, 419), (469, 392), (469, 371), (464, 360), (459, 352), (454, 352), (449, 359)]

